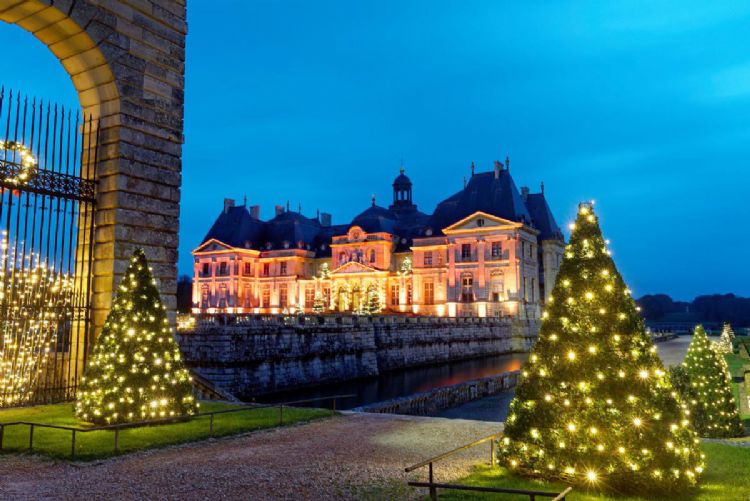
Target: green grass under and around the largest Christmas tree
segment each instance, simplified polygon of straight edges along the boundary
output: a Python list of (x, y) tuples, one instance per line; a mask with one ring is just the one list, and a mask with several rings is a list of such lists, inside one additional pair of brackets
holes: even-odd
[[(617, 500), (617, 501), (642, 501), (644, 499), (660, 500), (685, 500), (685, 501), (725, 501), (725, 500), (750, 500), (750, 448), (732, 447), (720, 444), (703, 444), (703, 450), (708, 457), (708, 467), (703, 474), (700, 485), (695, 491), (684, 493), (673, 498), (640, 498), (617, 496), (614, 494), (601, 495), (574, 490), (567, 499), (569, 500)], [(436, 468), (436, 480), (440, 481), (440, 466)], [(484, 487), (508, 487), (517, 489), (535, 489), (545, 491), (562, 492), (565, 485), (558, 483), (541, 482), (525, 478), (515, 477), (508, 473), (505, 468), (490, 468), (489, 465), (478, 466), (467, 478), (452, 482), (456, 484), (478, 485)], [(500, 495), (484, 494), (477, 492), (439, 491), (440, 499), (446, 500), (474, 500), (474, 499), (498, 499)], [(508, 496), (503, 499), (528, 499), (523, 496)]]

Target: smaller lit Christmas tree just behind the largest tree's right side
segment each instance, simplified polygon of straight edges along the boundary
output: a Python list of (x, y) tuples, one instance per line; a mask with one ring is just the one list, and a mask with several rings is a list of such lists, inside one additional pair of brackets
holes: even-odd
[(729, 368), (724, 355), (716, 352), (701, 325), (693, 331), (683, 365), (691, 388), (685, 400), (690, 405), (698, 434), (709, 438), (741, 436), (742, 422)]

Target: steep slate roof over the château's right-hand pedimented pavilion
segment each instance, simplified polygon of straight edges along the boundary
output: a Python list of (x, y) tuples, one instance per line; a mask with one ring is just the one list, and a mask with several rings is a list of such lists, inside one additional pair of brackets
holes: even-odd
[(434, 232), (475, 212), (531, 224), (532, 218), (508, 169), (480, 172), (471, 176), (466, 187), (440, 202), (428, 223)]

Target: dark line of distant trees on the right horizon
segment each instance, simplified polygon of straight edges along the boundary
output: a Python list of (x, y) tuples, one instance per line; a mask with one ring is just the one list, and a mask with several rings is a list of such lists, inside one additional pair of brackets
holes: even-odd
[(667, 294), (647, 294), (636, 300), (641, 315), (650, 322), (729, 322), (750, 326), (750, 298), (734, 294), (709, 294), (692, 301), (675, 301)]

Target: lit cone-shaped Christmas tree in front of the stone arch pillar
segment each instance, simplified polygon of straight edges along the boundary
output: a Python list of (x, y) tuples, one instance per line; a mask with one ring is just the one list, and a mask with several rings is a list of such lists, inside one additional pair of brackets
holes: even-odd
[(98, 424), (194, 414), (190, 373), (138, 249), (89, 356), (76, 415)]

